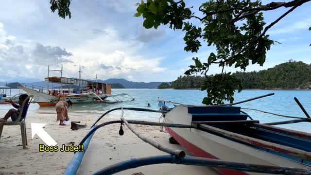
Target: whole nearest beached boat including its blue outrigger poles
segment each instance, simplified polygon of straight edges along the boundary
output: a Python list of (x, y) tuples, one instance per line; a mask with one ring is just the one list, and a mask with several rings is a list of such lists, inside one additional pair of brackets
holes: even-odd
[[(246, 101), (269, 95), (273, 94)], [(83, 152), (75, 153), (64, 175), (75, 175), (94, 132), (112, 123), (121, 123), (120, 135), (123, 135), (122, 124), (125, 124), (138, 138), (170, 155), (123, 161), (105, 167), (94, 175), (112, 175), (127, 169), (160, 163), (213, 167), (223, 175), (311, 175), (311, 134), (272, 126), (311, 122), (309, 114), (296, 98), (295, 101), (307, 118), (280, 115), (296, 120), (264, 124), (253, 120), (240, 107), (232, 106), (246, 101), (210, 106), (174, 103), (178, 106), (174, 105), (173, 108), (165, 105), (165, 102), (173, 103), (171, 101), (158, 101), (160, 110), (120, 107), (105, 112), (80, 142), (86, 147)], [(97, 125), (106, 114), (114, 110), (122, 110), (121, 120)], [(159, 112), (162, 113), (163, 123), (127, 121), (123, 118), (123, 110)], [(247, 118), (250, 120), (246, 120)], [(135, 130), (133, 124), (164, 126), (173, 139), (194, 156), (186, 156), (182, 150), (175, 150), (146, 138)]]

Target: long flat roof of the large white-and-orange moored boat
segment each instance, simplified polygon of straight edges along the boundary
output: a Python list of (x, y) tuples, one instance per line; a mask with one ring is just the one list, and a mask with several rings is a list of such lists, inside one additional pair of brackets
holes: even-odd
[(50, 83), (62, 83), (62, 84), (83, 84), (83, 85), (88, 85), (90, 83), (94, 84), (105, 84), (105, 83), (100, 83), (100, 82), (95, 82), (95, 81), (90, 81), (90, 80), (84, 80), (84, 79), (79, 79), (79, 78), (66, 78), (66, 77), (46, 77), (44, 78), (46, 82)]

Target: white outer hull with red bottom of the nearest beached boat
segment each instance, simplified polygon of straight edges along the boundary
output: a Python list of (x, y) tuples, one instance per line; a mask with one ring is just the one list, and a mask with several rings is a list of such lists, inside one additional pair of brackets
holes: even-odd
[[(186, 106), (177, 106), (165, 115), (165, 123), (191, 124), (192, 116)], [(198, 129), (166, 128), (171, 136), (183, 147), (197, 157), (217, 158), (228, 161), (237, 161), (252, 164), (286, 166), (295, 168), (310, 168), (310, 166), (280, 157), (269, 152), (256, 149), (245, 144), (228, 140)], [(217, 169), (222, 174), (245, 175), (228, 169)], [(258, 173), (248, 173), (258, 175)], [(262, 174), (263, 175), (263, 174)]]

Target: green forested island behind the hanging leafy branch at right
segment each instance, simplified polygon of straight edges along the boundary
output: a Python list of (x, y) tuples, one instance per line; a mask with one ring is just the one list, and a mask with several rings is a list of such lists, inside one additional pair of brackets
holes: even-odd
[[(311, 65), (289, 60), (274, 68), (260, 71), (232, 73), (241, 79), (243, 89), (311, 89)], [(213, 75), (210, 75), (213, 76)], [(202, 76), (179, 76), (171, 83), (162, 83), (158, 88), (201, 88)]]

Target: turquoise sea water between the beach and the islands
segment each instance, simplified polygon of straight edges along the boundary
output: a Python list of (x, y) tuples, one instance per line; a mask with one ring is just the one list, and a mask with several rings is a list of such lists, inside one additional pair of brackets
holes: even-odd
[[(20, 89), (12, 89), (12, 94), (22, 93)], [(93, 114), (94, 117), (98, 118), (106, 110), (115, 107), (143, 107), (147, 108), (147, 104), (150, 103), (150, 109), (158, 109), (157, 97), (162, 100), (170, 100), (183, 104), (191, 105), (202, 105), (202, 99), (205, 97), (206, 92), (200, 90), (174, 90), (174, 89), (113, 89), (115, 93), (128, 93), (135, 98), (135, 101), (127, 101), (118, 104), (102, 104), (102, 103), (91, 103), (91, 104), (73, 104), (70, 111), (80, 112), (81, 115), (84, 113)], [(300, 103), (311, 115), (311, 91), (309, 90), (243, 90), (241, 93), (235, 94), (235, 102), (242, 101), (245, 99), (253, 98), (256, 96), (275, 93), (273, 96), (265, 97), (259, 100), (246, 102), (237, 106), (245, 108), (255, 108), (259, 110), (269, 111), (277, 114), (290, 115), (305, 117), (302, 110), (294, 101), (294, 97), (298, 98)], [(113, 99), (112, 99), (113, 100)], [(123, 100), (126, 100), (123, 98)], [(6, 112), (12, 108), (11, 105), (0, 105), (0, 113)], [(46, 110), (53, 111), (53, 106), (40, 107), (37, 104), (33, 104), (30, 110)], [(254, 120), (259, 120), (260, 123), (279, 122), (285, 120), (294, 120), (290, 118), (278, 117), (270, 114), (265, 114), (257, 111), (244, 110)], [(121, 112), (115, 111), (110, 115), (112, 118), (119, 118)], [(158, 121), (160, 114), (158, 113), (146, 113), (136, 111), (125, 111), (124, 117), (135, 120), (150, 120)], [(311, 123), (294, 123), (279, 125), (289, 129), (300, 130), (311, 133)]]

